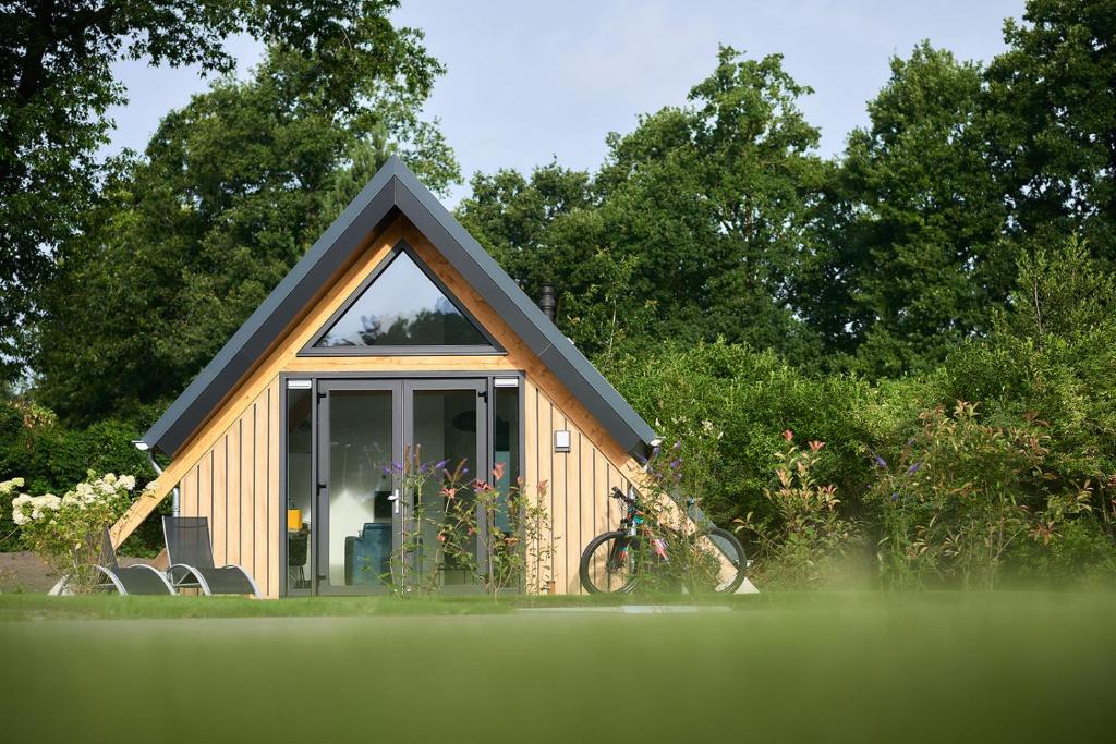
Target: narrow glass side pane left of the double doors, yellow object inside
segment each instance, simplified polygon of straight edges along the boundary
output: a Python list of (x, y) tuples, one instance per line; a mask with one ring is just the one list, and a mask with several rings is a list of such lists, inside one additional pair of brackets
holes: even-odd
[(312, 390), (287, 390), (287, 589), (310, 588), (314, 522)]

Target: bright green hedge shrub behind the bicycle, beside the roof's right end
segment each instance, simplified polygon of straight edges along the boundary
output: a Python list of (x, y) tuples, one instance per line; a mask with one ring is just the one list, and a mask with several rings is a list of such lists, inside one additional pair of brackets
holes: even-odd
[(763, 490), (783, 429), (828, 443), (815, 474), (856, 513), (872, 477), (864, 450), (893, 438), (932, 392), (922, 379), (874, 387), (854, 376), (811, 376), (771, 352), (723, 342), (653, 347), (602, 370), (658, 434), (682, 441), (682, 490), (722, 525), (749, 512), (775, 515)]

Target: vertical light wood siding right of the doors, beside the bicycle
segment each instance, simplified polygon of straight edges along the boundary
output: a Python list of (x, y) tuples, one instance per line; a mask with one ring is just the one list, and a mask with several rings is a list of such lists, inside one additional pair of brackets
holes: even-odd
[[(530, 378), (523, 396), (527, 486), (547, 482), (545, 505), (554, 526), (552, 566), (530, 567), (528, 580), (541, 588), (552, 578), (558, 593), (584, 593), (581, 551), (598, 533), (616, 529), (619, 515), (608, 492), (626, 490), (628, 480)], [(554, 433), (561, 429), (570, 433), (569, 452), (555, 452)]]

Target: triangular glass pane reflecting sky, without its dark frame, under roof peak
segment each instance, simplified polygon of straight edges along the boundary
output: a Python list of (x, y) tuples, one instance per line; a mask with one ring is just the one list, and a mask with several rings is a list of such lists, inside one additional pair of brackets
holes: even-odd
[(401, 252), (315, 346), (489, 346), (489, 342), (411, 257)]

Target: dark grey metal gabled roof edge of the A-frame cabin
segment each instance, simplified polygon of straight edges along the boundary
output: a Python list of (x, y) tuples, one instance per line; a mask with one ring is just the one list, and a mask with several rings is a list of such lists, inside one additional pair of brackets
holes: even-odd
[(403, 161), (392, 156), (144, 434), (143, 441), (164, 454), (177, 454), (329, 278), (355, 258), (367, 235), (400, 213), (484, 297), (626, 451), (639, 452), (655, 438), (647, 422), (419, 183)]

